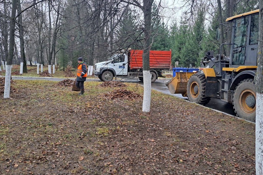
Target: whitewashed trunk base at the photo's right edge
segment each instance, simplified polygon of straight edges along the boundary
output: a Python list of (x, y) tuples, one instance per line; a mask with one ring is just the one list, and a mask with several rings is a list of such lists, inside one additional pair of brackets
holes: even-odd
[(256, 98), (256, 174), (263, 174), (263, 94)]

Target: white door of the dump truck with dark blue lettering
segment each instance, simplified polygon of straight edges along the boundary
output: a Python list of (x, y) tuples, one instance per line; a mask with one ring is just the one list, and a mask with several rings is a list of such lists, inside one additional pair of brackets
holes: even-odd
[(117, 56), (113, 61), (113, 67), (117, 76), (127, 75), (128, 65), (125, 62), (125, 55)]

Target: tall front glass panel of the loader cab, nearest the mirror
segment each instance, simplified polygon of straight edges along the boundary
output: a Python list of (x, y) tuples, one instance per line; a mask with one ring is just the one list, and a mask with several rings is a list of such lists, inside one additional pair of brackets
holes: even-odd
[[(236, 19), (234, 38), (233, 38), (233, 53), (232, 65), (245, 65), (246, 45), (248, 38), (248, 16)], [(236, 67), (238, 67), (236, 66)]]

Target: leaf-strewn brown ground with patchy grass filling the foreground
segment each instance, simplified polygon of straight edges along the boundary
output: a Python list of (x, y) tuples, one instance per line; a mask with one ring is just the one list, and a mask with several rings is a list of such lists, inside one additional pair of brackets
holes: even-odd
[(156, 91), (143, 113), (142, 98), (99, 97), (116, 90), (101, 82), (81, 97), (58, 82), (15, 83), (0, 96), (0, 174), (255, 174), (255, 124)]

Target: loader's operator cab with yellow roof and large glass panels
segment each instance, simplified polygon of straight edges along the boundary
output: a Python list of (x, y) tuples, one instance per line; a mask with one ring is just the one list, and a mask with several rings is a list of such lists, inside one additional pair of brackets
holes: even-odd
[(233, 22), (230, 67), (257, 66), (259, 10), (227, 18)]

